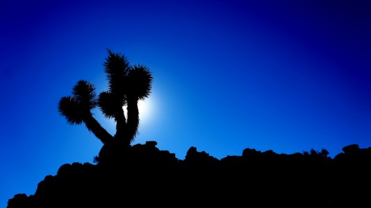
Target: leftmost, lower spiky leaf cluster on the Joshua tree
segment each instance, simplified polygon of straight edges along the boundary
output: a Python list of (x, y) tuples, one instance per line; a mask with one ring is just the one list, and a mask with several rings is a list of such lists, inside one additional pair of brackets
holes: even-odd
[(81, 105), (74, 97), (65, 96), (61, 98), (58, 105), (58, 112), (65, 116), (69, 125), (81, 124), (83, 122)]

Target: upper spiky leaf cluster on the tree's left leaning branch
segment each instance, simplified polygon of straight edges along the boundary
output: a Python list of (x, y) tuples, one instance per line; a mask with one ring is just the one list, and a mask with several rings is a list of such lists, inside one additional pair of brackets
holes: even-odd
[(92, 83), (86, 80), (79, 80), (72, 89), (72, 94), (74, 94), (74, 98), (83, 109), (91, 110), (97, 106), (97, 96), (94, 90), (95, 87)]

